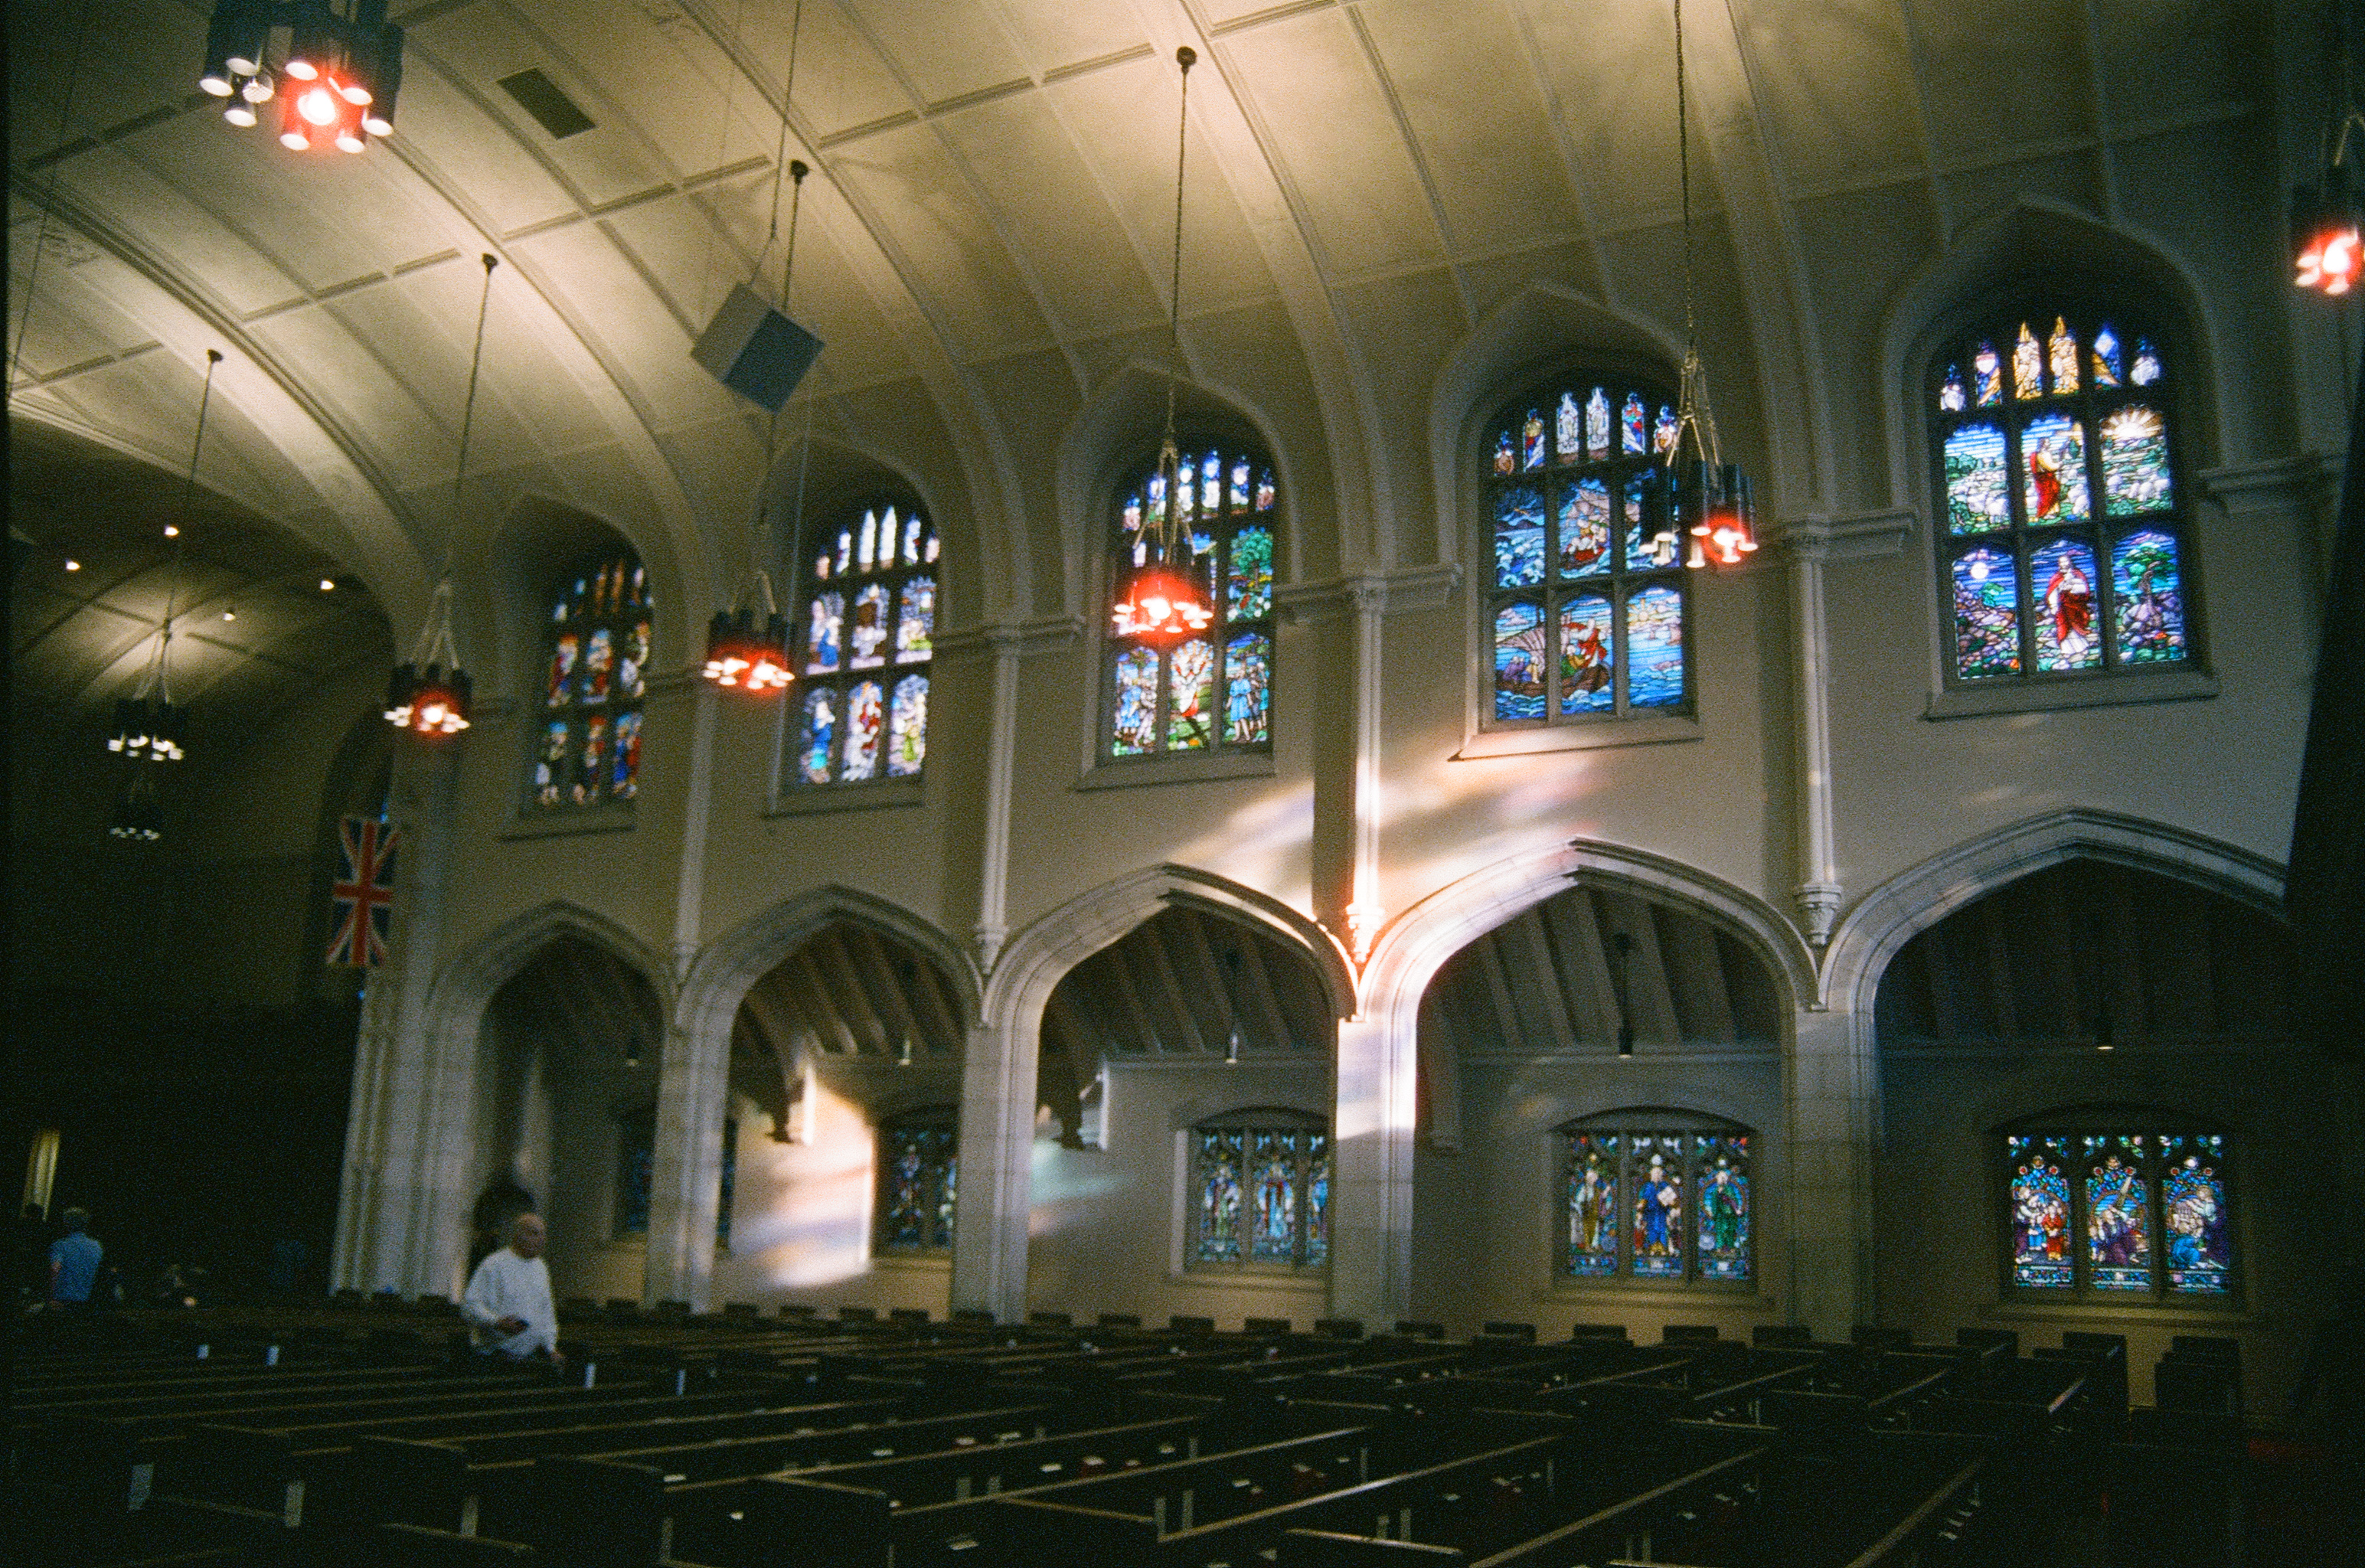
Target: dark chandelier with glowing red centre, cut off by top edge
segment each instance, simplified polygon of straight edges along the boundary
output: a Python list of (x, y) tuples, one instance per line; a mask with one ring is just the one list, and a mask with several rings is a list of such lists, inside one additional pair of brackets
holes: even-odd
[[(267, 54), (277, 35), (286, 43), (274, 71)], [(362, 151), (395, 132), (402, 28), (388, 26), (385, 0), (345, 0), (343, 9), (331, 0), (215, 0), (196, 85), (229, 99), (222, 118), (241, 128), (279, 99), (289, 151)]]

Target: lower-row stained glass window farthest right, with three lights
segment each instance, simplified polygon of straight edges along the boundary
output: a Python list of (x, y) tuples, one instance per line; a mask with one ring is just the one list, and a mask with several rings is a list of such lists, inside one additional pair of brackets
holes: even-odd
[(2003, 1135), (2010, 1284), (2093, 1301), (2233, 1294), (2225, 1138), (2107, 1126)]

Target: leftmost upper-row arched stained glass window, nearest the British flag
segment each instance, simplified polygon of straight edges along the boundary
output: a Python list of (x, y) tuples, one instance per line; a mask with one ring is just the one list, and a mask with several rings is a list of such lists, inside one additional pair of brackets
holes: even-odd
[(527, 809), (558, 816), (629, 802), (641, 792), (648, 572), (629, 553), (589, 561), (558, 584), (544, 624)]

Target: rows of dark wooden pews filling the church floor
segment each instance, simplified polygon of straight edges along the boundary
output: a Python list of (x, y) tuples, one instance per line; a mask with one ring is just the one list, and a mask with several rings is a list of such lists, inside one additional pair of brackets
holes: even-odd
[(2225, 1341), (2128, 1412), (2110, 1336), (1400, 1327), (584, 1303), (561, 1374), (447, 1303), (132, 1315), (19, 1343), (14, 1525), (123, 1568), (2233, 1561)]

